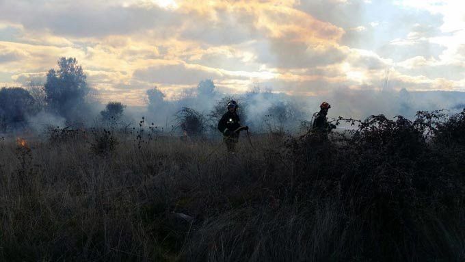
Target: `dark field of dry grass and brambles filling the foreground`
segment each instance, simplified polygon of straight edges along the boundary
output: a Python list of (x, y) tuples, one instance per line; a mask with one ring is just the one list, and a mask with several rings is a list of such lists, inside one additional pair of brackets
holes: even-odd
[(464, 113), (436, 113), (236, 155), (142, 129), (7, 138), (0, 260), (464, 261)]

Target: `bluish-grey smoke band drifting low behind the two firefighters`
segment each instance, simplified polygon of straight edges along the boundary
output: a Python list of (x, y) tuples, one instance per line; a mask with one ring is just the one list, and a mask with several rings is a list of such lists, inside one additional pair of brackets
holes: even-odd
[[(176, 113), (184, 107), (202, 114), (211, 128), (209, 133), (217, 135), (217, 120), (226, 112), (226, 103), (233, 99), (239, 103), (239, 116), (243, 125), (248, 125), (254, 132), (300, 131), (302, 121), (309, 121), (323, 101), (331, 104), (328, 118), (364, 119), (371, 115), (384, 114), (388, 118), (397, 115), (414, 118), (417, 111), (447, 109), (450, 114), (460, 112), (465, 107), (465, 92), (409, 92), (406, 88), (396, 91), (352, 90), (350, 88), (333, 88), (326, 96), (291, 96), (272, 92), (270, 89), (252, 88), (241, 94), (220, 92), (213, 81), (200, 81), (196, 88), (185, 90), (179, 99), (170, 101), (158, 88), (146, 92), (146, 106), (122, 107), (124, 111), (118, 120), (120, 127), (134, 127), (142, 117), (146, 123), (153, 123), (164, 131), (171, 131), (176, 124)], [(79, 119), (84, 127), (98, 127), (101, 109), (98, 102), (88, 103), (88, 110), (79, 112)], [(42, 133), (49, 128), (67, 127), (68, 119), (42, 109), (36, 114), (27, 114), (29, 129)], [(97, 121), (96, 121), (97, 120)]]

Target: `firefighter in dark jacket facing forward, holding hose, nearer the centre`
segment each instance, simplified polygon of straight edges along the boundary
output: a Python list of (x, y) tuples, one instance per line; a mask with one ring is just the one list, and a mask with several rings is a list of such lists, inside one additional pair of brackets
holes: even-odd
[(233, 153), (237, 142), (239, 142), (239, 132), (248, 130), (249, 127), (241, 126), (241, 120), (236, 114), (237, 103), (234, 100), (228, 102), (228, 112), (222, 116), (218, 122), (218, 130), (223, 133), (223, 141), (228, 148), (228, 152)]

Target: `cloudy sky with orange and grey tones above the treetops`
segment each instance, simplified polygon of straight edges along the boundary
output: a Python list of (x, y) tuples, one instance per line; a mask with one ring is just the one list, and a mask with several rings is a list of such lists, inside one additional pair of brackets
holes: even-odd
[[(461, 0), (0, 0), (0, 86), (76, 57), (101, 101), (224, 93), (465, 91)], [(387, 81), (386, 81), (387, 79)]]

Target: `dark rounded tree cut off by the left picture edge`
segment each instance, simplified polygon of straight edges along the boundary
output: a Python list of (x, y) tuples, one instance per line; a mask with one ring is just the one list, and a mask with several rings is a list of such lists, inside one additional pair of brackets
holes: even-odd
[(38, 112), (34, 97), (23, 88), (1, 88), (0, 90), (0, 128), (24, 127), (26, 117)]

